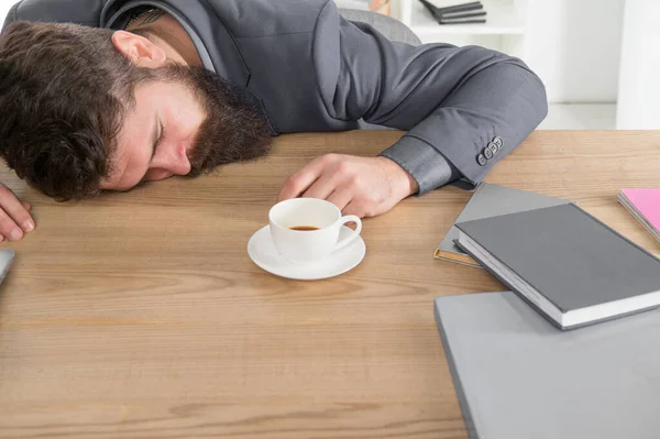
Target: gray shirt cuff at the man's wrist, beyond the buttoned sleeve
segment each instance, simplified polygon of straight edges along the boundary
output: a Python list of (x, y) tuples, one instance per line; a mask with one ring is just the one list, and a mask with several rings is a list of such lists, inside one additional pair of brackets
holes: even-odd
[(424, 195), (461, 178), (459, 169), (438, 150), (410, 135), (378, 154), (403, 167), (419, 185), (417, 195)]

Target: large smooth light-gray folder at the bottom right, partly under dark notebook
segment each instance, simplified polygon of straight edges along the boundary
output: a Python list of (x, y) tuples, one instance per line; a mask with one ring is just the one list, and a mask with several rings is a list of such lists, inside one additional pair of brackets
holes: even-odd
[(564, 332), (507, 292), (436, 320), (472, 439), (660, 437), (660, 311)]

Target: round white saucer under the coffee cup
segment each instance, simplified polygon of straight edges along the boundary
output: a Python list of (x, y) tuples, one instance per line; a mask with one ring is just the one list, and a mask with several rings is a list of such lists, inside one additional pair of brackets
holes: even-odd
[[(339, 239), (352, 232), (353, 230), (342, 226)], [(364, 240), (358, 237), (348, 246), (338, 250), (323, 261), (297, 265), (279, 255), (271, 238), (270, 226), (254, 233), (248, 243), (248, 254), (257, 266), (276, 276), (297, 281), (324, 279), (343, 274), (360, 264), (365, 253)]]

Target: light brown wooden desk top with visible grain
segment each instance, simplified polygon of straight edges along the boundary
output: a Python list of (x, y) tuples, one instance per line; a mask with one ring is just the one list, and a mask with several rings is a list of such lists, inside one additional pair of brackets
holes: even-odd
[[(262, 162), (78, 205), (3, 168), (38, 227), (9, 244), (0, 288), (0, 437), (465, 438), (432, 300), (503, 286), (432, 253), (470, 194), (365, 221), (366, 259), (334, 279), (277, 278), (246, 254), (287, 175), (399, 135), (283, 136)], [(537, 132), (487, 180), (578, 201), (660, 253), (616, 201), (660, 187), (659, 132)]]

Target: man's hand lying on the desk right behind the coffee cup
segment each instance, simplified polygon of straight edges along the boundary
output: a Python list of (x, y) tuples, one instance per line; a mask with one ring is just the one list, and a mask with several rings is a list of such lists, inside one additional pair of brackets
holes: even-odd
[(417, 190), (413, 176), (389, 158), (328, 154), (292, 175), (277, 201), (321, 198), (363, 218), (385, 213)]

